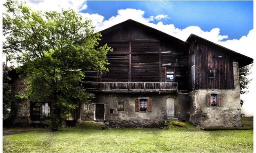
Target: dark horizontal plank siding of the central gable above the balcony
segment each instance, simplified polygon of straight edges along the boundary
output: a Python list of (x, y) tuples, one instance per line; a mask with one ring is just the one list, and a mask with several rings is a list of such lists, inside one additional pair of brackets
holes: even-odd
[[(166, 82), (166, 71), (174, 71), (178, 90), (187, 90), (185, 45), (134, 24), (105, 31), (101, 44), (105, 43), (113, 48), (113, 52), (107, 55), (109, 72), (102, 75), (101, 81)], [(165, 66), (168, 63), (171, 65)]]

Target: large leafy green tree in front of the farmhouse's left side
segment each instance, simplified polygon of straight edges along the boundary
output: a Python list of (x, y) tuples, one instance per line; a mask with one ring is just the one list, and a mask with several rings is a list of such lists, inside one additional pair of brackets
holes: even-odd
[(93, 94), (81, 85), (83, 70), (106, 72), (107, 44), (99, 46), (101, 34), (90, 20), (73, 10), (32, 11), (21, 2), (7, 1), (3, 14), (3, 52), (11, 55), (27, 76), (31, 102), (51, 101), (58, 118), (79, 103), (88, 103)]

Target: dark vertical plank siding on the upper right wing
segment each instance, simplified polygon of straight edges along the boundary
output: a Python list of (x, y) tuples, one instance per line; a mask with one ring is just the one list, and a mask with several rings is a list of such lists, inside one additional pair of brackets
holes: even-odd
[[(189, 45), (189, 68), (192, 66), (193, 52), (196, 89), (234, 89), (233, 57), (212, 46), (194, 41)], [(192, 78), (189, 84), (192, 88)]]

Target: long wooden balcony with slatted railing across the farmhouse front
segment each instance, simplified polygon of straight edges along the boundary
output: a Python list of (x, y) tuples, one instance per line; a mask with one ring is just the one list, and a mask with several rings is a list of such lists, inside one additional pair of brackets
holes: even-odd
[(178, 83), (167, 82), (83, 82), (87, 91), (95, 92), (165, 92), (176, 93)]

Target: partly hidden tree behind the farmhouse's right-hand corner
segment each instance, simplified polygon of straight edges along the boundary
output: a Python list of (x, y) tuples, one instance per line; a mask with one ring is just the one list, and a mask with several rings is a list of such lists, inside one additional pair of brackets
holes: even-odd
[[(245, 91), (245, 89), (248, 89), (248, 84), (252, 81), (252, 79), (249, 79), (247, 76), (252, 73), (251, 71), (252, 65), (244, 66), (239, 69), (239, 84), (240, 84), (240, 94), (247, 94), (248, 91)], [(242, 99), (240, 100), (240, 105), (242, 106), (243, 103)]]

